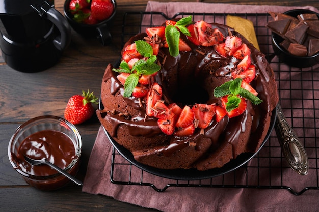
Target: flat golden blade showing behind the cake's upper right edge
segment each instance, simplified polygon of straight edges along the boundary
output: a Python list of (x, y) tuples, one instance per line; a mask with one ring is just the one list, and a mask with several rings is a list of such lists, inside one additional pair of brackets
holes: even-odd
[(227, 15), (226, 25), (234, 28), (235, 31), (242, 34), (250, 43), (253, 44), (256, 49), (260, 51), (254, 30), (254, 25), (250, 20), (237, 16)]

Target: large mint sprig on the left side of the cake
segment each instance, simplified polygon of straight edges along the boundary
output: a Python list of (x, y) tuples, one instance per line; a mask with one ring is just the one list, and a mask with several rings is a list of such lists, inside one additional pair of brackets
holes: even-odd
[(141, 75), (151, 75), (161, 69), (161, 66), (156, 64), (157, 57), (153, 55), (152, 46), (143, 40), (135, 41), (137, 51), (144, 57), (138, 60), (130, 69), (128, 63), (122, 60), (119, 69), (112, 69), (118, 73), (129, 73), (130, 75), (125, 80), (124, 97), (130, 97), (134, 88), (138, 85)]

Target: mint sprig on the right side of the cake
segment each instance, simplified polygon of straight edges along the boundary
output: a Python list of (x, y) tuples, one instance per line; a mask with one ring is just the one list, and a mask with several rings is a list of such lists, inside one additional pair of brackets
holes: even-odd
[(228, 112), (236, 109), (239, 106), (241, 99), (238, 97), (238, 95), (248, 99), (254, 105), (258, 105), (262, 102), (259, 97), (255, 96), (249, 90), (241, 87), (242, 81), (243, 79), (236, 78), (234, 80), (225, 82), (221, 86), (214, 89), (214, 96), (217, 98), (229, 95), (228, 102), (226, 104), (226, 110)]

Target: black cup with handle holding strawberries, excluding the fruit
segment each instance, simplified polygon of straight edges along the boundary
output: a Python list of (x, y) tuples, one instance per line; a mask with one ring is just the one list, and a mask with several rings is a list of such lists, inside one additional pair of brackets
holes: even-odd
[(113, 18), (116, 14), (116, 1), (111, 0), (114, 6), (114, 11), (112, 15), (102, 22), (99, 22), (98, 24), (84, 24), (84, 23), (78, 23), (73, 20), (73, 15), (69, 11), (69, 4), (71, 0), (66, 0), (64, 3), (64, 15), (68, 22), (70, 23), (71, 27), (79, 34), (81, 34), (83, 37), (91, 38), (96, 37), (102, 45), (109, 45), (112, 41), (112, 35), (110, 33), (110, 28), (113, 25)]

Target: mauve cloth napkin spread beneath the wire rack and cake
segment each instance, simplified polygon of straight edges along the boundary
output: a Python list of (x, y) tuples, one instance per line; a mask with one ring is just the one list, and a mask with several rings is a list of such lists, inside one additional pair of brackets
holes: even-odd
[[(318, 11), (313, 7), (300, 7), (305, 9), (311, 9)], [(178, 2), (149, 2), (146, 11), (159, 11), (164, 12), (168, 17), (172, 17), (177, 12), (209, 12), (209, 13), (267, 13), (284, 12), (294, 7), (278, 7), (278, 6), (248, 6), (248, 5), (231, 5), (231, 4), (212, 4), (212, 3), (178, 3)], [(163, 21), (162, 21), (163, 22)], [(161, 23), (162, 23), (161, 22)], [(276, 58), (274, 58), (276, 60)], [(283, 74), (287, 74), (289, 69), (287, 66), (280, 67), (283, 70)], [(319, 71), (319, 66), (314, 67)], [(278, 70), (278, 69), (277, 69)], [(287, 72), (285, 72), (287, 71)], [(288, 74), (289, 75), (289, 74)], [(278, 77), (278, 76), (277, 76)], [(280, 75), (280, 77), (286, 77)], [(291, 80), (298, 80), (298, 75), (288, 76)], [(287, 82), (289, 86), (293, 86)], [(284, 87), (285, 85), (281, 85)], [(291, 89), (291, 88), (290, 88)], [(314, 88), (312, 88), (314, 89)], [(284, 94), (282, 94), (284, 96)], [(311, 99), (313, 97), (304, 97), (305, 99)], [(294, 104), (300, 104), (293, 102)], [(291, 101), (287, 101), (283, 98), (281, 105), (283, 108), (289, 108)], [(285, 112), (290, 112), (286, 110)], [(288, 115), (288, 121), (293, 122), (291, 117), (292, 112)], [(299, 113), (294, 116), (299, 116)], [(298, 128), (297, 131), (299, 132)], [(311, 132), (315, 137), (315, 132)], [(315, 142), (315, 141), (314, 141)], [(311, 145), (311, 144), (309, 144)], [(268, 161), (269, 148), (275, 148), (272, 150), (272, 154), (279, 156), (274, 157), (271, 161)], [(87, 174), (84, 180), (83, 192), (91, 194), (103, 194), (113, 197), (119, 201), (128, 202), (131, 204), (140, 205), (147, 208), (155, 208), (160, 211), (316, 211), (319, 207), (317, 201), (317, 190), (306, 191), (300, 196), (295, 196), (285, 189), (248, 189), (248, 188), (191, 188), (191, 187), (169, 187), (164, 192), (157, 192), (149, 186), (135, 186), (135, 185), (116, 185), (110, 181), (111, 172), (111, 159), (112, 159), (113, 146), (108, 141), (102, 127), (98, 131), (94, 147), (89, 159), (87, 168)], [(277, 152), (276, 152), (277, 151)], [(314, 149), (315, 152), (315, 149)], [(314, 154), (314, 155), (312, 155)], [(316, 169), (309, 171), (306, 176), (299, 176), (290, 168), (283, 170), (271, 169), (270, 173), (269, 164), (272, 167), (281, 167), (282, 161), (280, 160), (280, 147), (275, 133), (268, 143), (261, 149), (259, 155), (264, 157), (265, 168), (260, 168), (260, 173), (257, 173), (257, 168), (254, 168), (259, 160), (252, 159), (248, 163), (248, 169), (240, 168), (236, 170), (235, 182), (234, 173), (230, 172), (224, 176), (219, 176), (210, 179), (201, 180), (201, 184), (229, 184), (233, 185), (269, 185), (269, 178), (271, 178), (271, 185), (281, 185), (282, 181), (289, 182), (288, 186), (291, 186), (294, 190), (300, 191), (305, 185), (316, 185)], [(268, 156), (268, 157), (267, 157)], [(311, 153), (309, 157), (315, 158), (315, 153)], [(316, 159), (311, 160), (311, 165), (316, 167)], [(126, 163), (127, 161), (121, 157), (116, 157), (116, 163)], [(283, 162), (284, 163), (284, 162)], [(118, 166), (119, 167), (119, 166)], [(114, 170), (114, 180), (117, 181), (134, 181), (139, 182), (141, 180), (141, 170), (135, 166), (132, 166), (131, 175), (127, 166), (123, 168), (116, 168)], [(257, 175), (258, 174), (258, 175)], [(264, 177), (263, 177), (264, 176)], [(162, 177), (158, 177), (147, 172), (143, 172), (143, 182), (152, 183), (157, 188), (164, 188), (167, 184), (176, 183), (176, 180), (170, 180)], [(179, 183), (197, 184), (195, 182), (179, 181)]]

